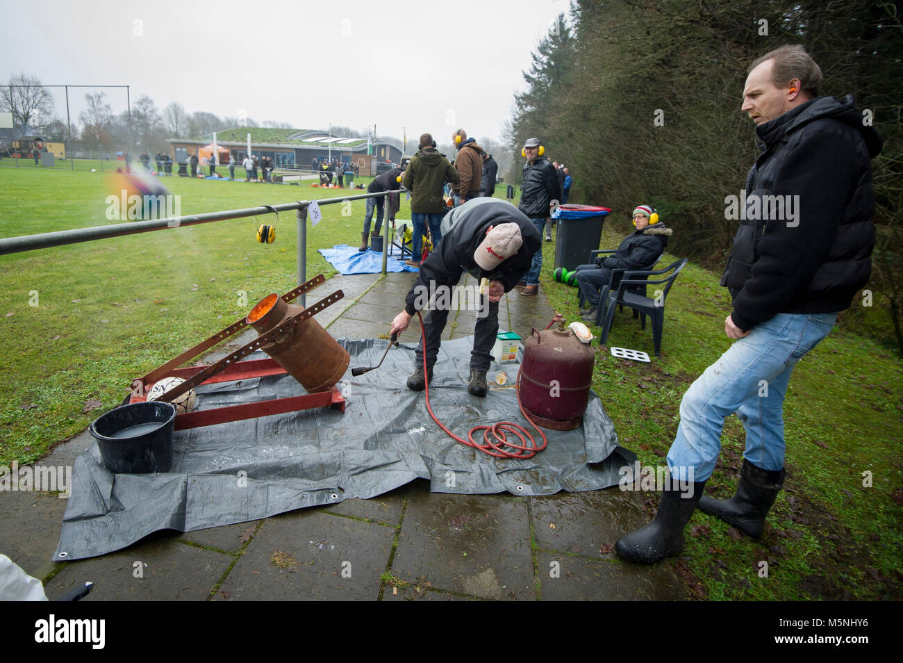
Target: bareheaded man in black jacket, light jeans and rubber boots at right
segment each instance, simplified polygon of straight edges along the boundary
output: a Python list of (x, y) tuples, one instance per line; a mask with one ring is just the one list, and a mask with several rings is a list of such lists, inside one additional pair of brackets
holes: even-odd
[[(684, 546), (698, 506), (759, 538), (784, 483), (783, 406), (796, 362), (821, 341), (868, 282), (875, 229), (871, 159), (881, 138), (852, 97), (818, 97), (822, 70), (802, 46), (752, 63), (741, 110), (762, 154), (725, 218), (740, 218), (721, 285), (736, 341), (684, 394), (655, 520), (621, 537), (619, 556), (651, 564)], [(732, 201), (731, 201), (732, 199)], [(739, 212), (739, 213), (738, 213)], [(746, 428), (737, 494), (701, 497), (721, 451), (724, 417)]]

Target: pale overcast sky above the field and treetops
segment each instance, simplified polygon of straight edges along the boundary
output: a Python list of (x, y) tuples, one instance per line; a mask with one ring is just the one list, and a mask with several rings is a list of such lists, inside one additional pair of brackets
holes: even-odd
[[(0, 0), (0, 81), (128, 85), (163, 109), (247, 114), (408, 141), (459, 126), (500, 140), (535, 50), (567, 0)], [(77, 122), (86, 89), (70, 89)], [(104, 89), (114, 112), (125, 90)], [(62, 89), (53, 90), (65, 122)], [(446, 135), (447, 134), (447, 135)]]

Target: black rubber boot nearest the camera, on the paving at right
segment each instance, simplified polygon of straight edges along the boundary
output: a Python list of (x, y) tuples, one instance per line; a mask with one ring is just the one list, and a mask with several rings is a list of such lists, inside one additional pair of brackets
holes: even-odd
[(669, 485), (662, 492), (656, 518), (646, 527), (620, 537), (615, 544), (615, 552), (622, 559), (638, 564), (655, 564), (684, 549), (684, 525), (693, 516), (705, 481), (690, 484), (693, 493), (682, 497), (685, 493), (680, 489), (680, 482), (672, 479), (670, 474), (668, 479)]

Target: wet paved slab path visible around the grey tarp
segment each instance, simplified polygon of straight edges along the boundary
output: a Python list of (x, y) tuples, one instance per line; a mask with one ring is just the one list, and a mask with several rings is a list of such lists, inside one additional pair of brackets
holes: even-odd
[[(307, 303), (341, 289), (344, 298), (316, 319), (338, 339), (385, 338), (413, 281), (412, 273), (336, 276)], [(526, 338), (553, 317), (542, 286), (536, 297), (516, 289), (500, 303), (499, 331)], [(452, 313), (443, 338), (470, 335), (475, 321), (475, 312)], [(416, 343), (419, 332), (414, 320), (400, 340)], [(255, 335), (247, 331), (224, 350)], [(72, 466), (91, 444), (85, 431), (37, 464)], [(457, 495), (431, 493), (417, 480), (372, 500), (156, 532), (116, 553), (57, 564), (51, 556), (65, 507), (50, 492), (0, 492), (0, 553), (43, 579), (51, 598), (85, 581), (95, 584), (88, 601), (684, 598), (671, 565), (630, 565), (610, 552), (621, 534), (647, 522), (641, 494), (617, 487)]]

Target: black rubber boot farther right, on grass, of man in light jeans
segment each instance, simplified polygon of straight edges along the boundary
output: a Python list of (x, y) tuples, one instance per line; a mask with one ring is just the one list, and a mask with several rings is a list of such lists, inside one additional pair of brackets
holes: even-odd
[(748, 537), (759, 538), (765, 528), (768, 509), (784, 485), (784, 470), (762, 470), (743, 459), (737, 494), (730, 500), (704, 497), (699, 510), (738, 528)]

